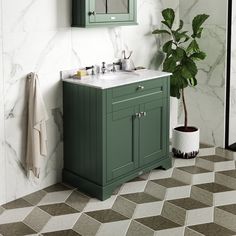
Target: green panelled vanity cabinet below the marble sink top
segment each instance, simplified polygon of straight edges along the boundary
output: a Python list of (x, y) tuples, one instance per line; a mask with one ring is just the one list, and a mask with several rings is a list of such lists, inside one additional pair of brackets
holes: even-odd
[(101, 89), (63, 82), (63, 180), (101, 200), (169, 157), (169, 77)]

